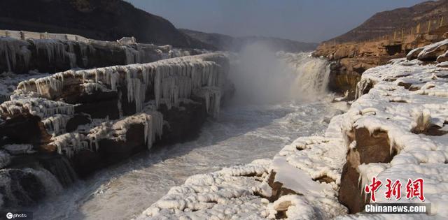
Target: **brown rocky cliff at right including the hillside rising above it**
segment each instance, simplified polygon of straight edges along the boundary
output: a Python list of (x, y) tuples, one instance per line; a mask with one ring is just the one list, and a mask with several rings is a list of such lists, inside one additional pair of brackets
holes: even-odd
[[(314, 56), (327, 57), (330, 61), (333, 61), (330, 73), (330, 89), (339, 93), (346, 93), (348, 98), (353, 99), (356, 93), (356, 83), (368, 68), (386, 64), (391, 59), (405, 57), (407, 52), (416, 47), (448, 38), (448, 25), (442, 17), (436, 17), (435, 19), (432, 17), (433, 20), (430, 20), (430, 25), (433, 26), (430, 27), (423, 28), (423, 24), (427, 23), (419, 23), (421, 19), (429, 19), (433, 15), (445, 15), (439, 12), (446, 10), (447, 3), (448, 1), (429, 1), (412, 8), (400, 8), (390, 12), (378, 13), (367, 20), (365, 24), (336, 38), (336, 40), (321, 43), (314, 52)], [(395, 18), (392, 19), (391, 16)], [(403, 22), (409, 20), (409, 27), (404, 29), (400, 26), (396, 29), (393, 22), (395, 20)], [(385, 24), (392, 25), (386, 27)], [(368, 31), (365, 33), (359, 31), (363, 29)], [(391, 35), (384, 36), (369, 32), (377, 29), (389, 30), (388, 32), (379, 31), (381, 34), (391, 34), (390, 30), (395, 31), (392, 31), (393, 34)], [(368, 41), (358, 41), (366, 39)], [(338, 43), (338, 41), (344, 43)]]

